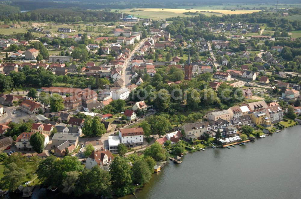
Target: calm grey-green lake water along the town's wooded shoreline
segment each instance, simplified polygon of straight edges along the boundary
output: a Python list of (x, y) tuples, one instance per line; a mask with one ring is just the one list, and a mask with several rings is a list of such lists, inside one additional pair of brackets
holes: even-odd
[[(182, 164), (169, 161), (161, 172), (153, 174), (151, 182), (136, 197), (300, 199), (300, 141), (301, 126), (297, 125), (244, 146), (188, 153)], [(65, 197), (36, 188), (32, 198)]]

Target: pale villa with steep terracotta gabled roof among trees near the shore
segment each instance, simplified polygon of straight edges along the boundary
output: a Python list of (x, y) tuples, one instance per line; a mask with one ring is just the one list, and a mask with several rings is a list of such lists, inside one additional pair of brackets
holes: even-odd
[(86, 168), (92, 169), (98, 165), (101, 169), (108, 171), (113, 159), (112, 153), (107, 149), (93, 150), (91, 155), (86, 159)]

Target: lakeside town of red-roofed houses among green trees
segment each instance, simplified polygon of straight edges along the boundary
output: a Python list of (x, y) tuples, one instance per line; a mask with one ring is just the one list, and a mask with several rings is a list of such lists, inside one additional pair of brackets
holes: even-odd
[[(113, 195), (128, 195), (186, 153), (241, 146), (301, 124), (300, 38), (284, 28), (263, 35), (266, 24), (243, 17), (214, 20), (122, 13), (114, 26), (99, 25), (107, 34), (54, 22), (2, 34), (0, 162), (40, 162), (26, 159), (22, 169), (35, 176), (3, 190), (29, 197), (43, 185), (93, 195), (82, 187), (75, 193), (75, 185), (66, 191), (64, 176), (73, 171), (79, 179), (110, 174), (103, 183), (118, 190)], [(58, 163), (74, 168), (47, 171)], [(131, 172), (130, 183), (117, 186), (118, 175)]]

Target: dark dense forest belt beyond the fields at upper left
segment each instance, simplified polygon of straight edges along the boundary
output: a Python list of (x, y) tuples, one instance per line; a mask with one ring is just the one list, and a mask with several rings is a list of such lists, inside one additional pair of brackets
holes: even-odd
[(8, 16), (0, 16), (0, 20), (8, 18), (10, 20), (21, 21), (54, 21), (54, 22), (112, 22), (117, 21), (121, 17), (121, 13), (109, 11), (84, 10), (80, 8), (51, 8), (37, 9), (24, 13), (14, 13)]

